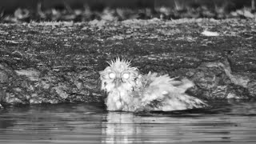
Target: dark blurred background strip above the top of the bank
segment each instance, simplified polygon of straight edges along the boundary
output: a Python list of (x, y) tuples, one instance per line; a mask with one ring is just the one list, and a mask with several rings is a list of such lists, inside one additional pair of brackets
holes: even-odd
[(0, 0), (0, 18), (5, 21), (88, 21), (104, 14), (112, 20), (253, 18), (254, 11), (254, 0)]

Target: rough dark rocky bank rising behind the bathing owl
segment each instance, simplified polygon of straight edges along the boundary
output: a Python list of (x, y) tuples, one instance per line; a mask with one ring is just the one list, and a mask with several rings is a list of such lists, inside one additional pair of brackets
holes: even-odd
[(206, 18), (0, 24), (0, 106), (102, 102), (113, 58), (187, 77), (199, 98), (256, 97), (256, 22)]

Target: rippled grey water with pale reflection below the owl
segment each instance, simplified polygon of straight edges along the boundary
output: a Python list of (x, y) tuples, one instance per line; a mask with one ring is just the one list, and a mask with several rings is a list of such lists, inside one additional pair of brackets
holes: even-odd
[(0, 110), (0, 143), (256, 143), (256, 102), (133, 114), (100, 104)]

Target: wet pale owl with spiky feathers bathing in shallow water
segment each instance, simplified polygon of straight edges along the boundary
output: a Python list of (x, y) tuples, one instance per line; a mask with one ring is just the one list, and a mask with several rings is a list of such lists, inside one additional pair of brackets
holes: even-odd
[(106, 91), (107, 110), (118, 111), (171, 111), (202, 108), (206, 102), (186, 94), (194, 83), (168, 74), (141, 74), (130, 61), (116, 58), (99, 72), (101, 89)]

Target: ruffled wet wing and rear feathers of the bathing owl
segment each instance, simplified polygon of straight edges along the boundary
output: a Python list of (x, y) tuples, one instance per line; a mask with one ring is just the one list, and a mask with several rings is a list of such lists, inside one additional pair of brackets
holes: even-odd
[(170, 78), (167, 74), (158, 76), (156, 73), (145, 75), (142, 94), (142, 105), (152, 106), (152, 110), (186, 110), (208, 106), (202, 100), (186, 94), (186, 90), (194, 86), (190, 80)]

